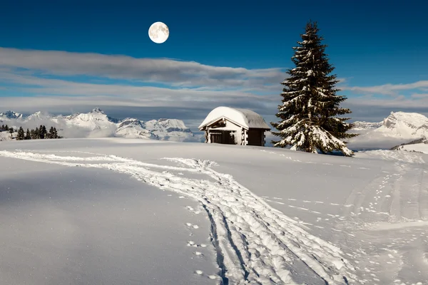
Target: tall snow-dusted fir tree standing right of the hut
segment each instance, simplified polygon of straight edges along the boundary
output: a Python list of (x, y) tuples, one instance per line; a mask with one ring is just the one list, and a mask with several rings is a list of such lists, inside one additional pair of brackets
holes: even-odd
[(347, 98), (337, 95), (338, 83), (335, 69), (325, 54), (326, 45), (322, 36), (318, 36), (317, 23), (310, 21), (302, 34), (302, 41), (294, 47), (292, 62), (295, 68), (287, 71), (290, 76), (281, 84), (282, 105), (278, 106), (279, 123), (271, 123), (278, 130), (272, 132), (281, 138), (272, 141), (275, 147), (292, 146), (292, 150), (322, 153), (338, 150), (346, 156), (353, 155), (342, 139), (355, 137), (346, 133), (352, 124), (345, 123), (350, 118), (337, 117), (350, 114), (346, 108), (340, 108)]

